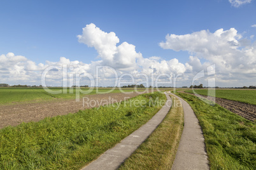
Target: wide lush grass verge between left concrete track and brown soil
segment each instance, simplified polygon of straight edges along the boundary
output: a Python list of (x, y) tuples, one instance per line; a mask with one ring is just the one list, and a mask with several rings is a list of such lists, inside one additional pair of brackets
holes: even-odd
[(152, 105), (156, 98), (166, 100), (162, 93), (144, 94), (119, 106), (1, 129), (0, 169), (79, 169), (151, 119), (161, 107)]

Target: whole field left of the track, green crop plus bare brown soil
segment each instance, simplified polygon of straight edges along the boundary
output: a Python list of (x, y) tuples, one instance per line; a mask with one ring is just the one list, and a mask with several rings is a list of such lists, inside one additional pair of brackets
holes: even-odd
[[(62, 88), (50, 88), (62, 91)], [(73, 90), (73, 93), (71, 93)], [(17, 126), (22, 122), (40, 121), (45, 117), (54, 117), (75, 113), (101, 105), (120, 102), (139, 94), (132, 88), (93, 89), (89, 94), (80, 93), (80, 101), (76, 101), (76, 89), (67, 89), (67, 93), (51, 94), (43, 88), (0, 88), (0, 129), (6, 126)], [(79, 89), (80, 90), (80, 89)], [(82, 88), (88, 91), (89, 88)], [(148, 89), (150, 91), (150, 89)], [(121, 93), (122, 91), (129, 94)], [(145, 93), (145, 88), (138, 89)], [(103, 94), (98, 94), (103, 93)], [(111, 93), (110, 93), (111, 92)]]

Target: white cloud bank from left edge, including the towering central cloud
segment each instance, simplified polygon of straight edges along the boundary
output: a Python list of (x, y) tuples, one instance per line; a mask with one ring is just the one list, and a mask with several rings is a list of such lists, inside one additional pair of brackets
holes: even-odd
[[(82, 34), (77, 37), (78, 42), (96, 49), (99, 60), (83, 63), (60, 57), (57, 62), (46, 61), (36, 64), (25, 56), (8, 53), (0, 56), (0, 72), (4, 73), (0, 75), (0, 79), (10, 84), (34, 85), (34, 82), (41, 84), (42, 72), (49, 69), (46, 74), (46, 85), (48, 86), (62, 86), (64, 81), (70, 82), (68, 86), (71, 86), (75, 81), (75, 75), (83, 78), (83, 84), (90, 84), (88, 77), (96, 78), (97, 76), (99, 86), (113, 86), (115, 73), (118, 76), (129, 74), (135, 78), (135, 82), (139, 82), (143, 80), (141, 75), (150, 75), (153, 72), (155, 77), (159, 74), (172, 76), (172, 74), (183, 74), (190, 67), (188, 64), (180, 63), (176, 58), (171, 60), (161, 60), (159, 56), (143, 58), (143, 55), (136, 51), (136, 46), (128, 42), (118, 44), (120, 40), (115, 32), (104, 32), (94, 23), (86, 25)], [(101, 69), (97, 70), (97, 68)], [(64, 77), (62, 75), (65, 69), (71, 76)], [(125, 79), (127, 80), (127, 78)]]

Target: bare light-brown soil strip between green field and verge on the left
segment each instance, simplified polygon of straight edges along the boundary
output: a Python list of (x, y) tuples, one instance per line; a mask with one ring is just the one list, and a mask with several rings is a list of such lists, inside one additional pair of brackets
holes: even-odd
[(137, 93), (108, 93), (101, 95), (86, 95), (85, 105), (83, 100), (54, 100), (41, 103), (18, 103), (16, 105), (0, 106), (0, 129), (6, 126), (17, 126), (22, 122), (38, 122), (45, 117), (66, 115), (86, 108), (99, 107), (138, 96)]

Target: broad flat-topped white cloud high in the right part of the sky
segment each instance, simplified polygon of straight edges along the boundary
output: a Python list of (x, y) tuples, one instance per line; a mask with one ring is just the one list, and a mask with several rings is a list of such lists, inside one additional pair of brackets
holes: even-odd
[(174, 51), (185, 50), (197, 53), (211, 53), (213, 51), (217, 52), (217, 49), (222, 48), (222, 46), (225, 48), (231, 45), (236, 48), (240, 38), (241, 35), (237, 34), (237, 30), (233, 28), (225, 31), (219, 29), (214, 33), (209, 30), (201, 30), (181, 36), (167, 34), (166, 42), (160, 42), (159, 45), (163, 49), (173, 49)]

